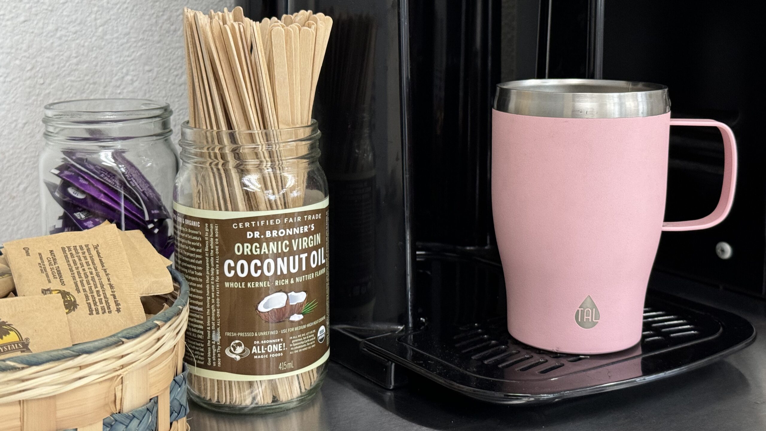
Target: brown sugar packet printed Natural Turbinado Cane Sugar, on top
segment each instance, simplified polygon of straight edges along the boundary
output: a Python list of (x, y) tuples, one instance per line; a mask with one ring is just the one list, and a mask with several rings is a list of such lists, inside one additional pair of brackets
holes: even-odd
[(18, 296), (64, 300), (75, 344), (146, 319), (114, 225), (6, 242), (4, 253)]

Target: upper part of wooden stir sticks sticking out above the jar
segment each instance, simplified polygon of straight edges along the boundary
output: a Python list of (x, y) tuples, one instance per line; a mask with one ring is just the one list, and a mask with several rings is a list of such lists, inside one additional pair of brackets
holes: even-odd
[(332, 18), (301, 11), (252, 21), (242, 8), (184, 10), (189, 123), (215, 130), (306, 126)]

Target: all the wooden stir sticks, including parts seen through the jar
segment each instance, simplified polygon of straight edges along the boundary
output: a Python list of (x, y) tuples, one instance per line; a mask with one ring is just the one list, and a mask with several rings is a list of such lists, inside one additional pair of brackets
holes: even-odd
[[(207, 15), (184, 9), (189, 124), (235, 131), (211, 138), (215, 142), (209, 145), (217, 150), (209, 152), (211, 172), (205, 174), (209, 177), (193, 179), (195, 208), (261, 211), (303, 205), (308, 166), (305, 160), (296, 160), (300, 150), (265, 144), (306, 137), (305, 132), (297, 136), (284, 129), (311, 123), (331, 29), (332, 18), (311, 11), (283, 15), (281, 20), (251, 21), (239, 7)], [(250, 130), (268, 132), (237, 133)], [(259, 144), (264, 145), (255, 154), (243, 149)], [(242, 161), (247, 163), (238, 163)], [(280, 169), (290, 169), (296, 181), (286, 181)], [(260, 183), (243, 184), (253, 178)], [(313, 387), (318, 377), (315, 368), (256, 381), (192, 375), (190, 383), (213, 403), (249, 406), (293, 400)]]

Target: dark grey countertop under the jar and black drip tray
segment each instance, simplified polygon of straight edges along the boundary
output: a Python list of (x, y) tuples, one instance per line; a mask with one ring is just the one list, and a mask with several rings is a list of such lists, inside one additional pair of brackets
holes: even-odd
[[(766, 301), (689, 281), (661, 282), (661, 288), (740, 314), (766, 334)], [(384, 390), (333, 363), (321, 393), (296, 409), (231, 416), (192, 406), (188, 417), (193, 431), (761, 430), (766, 429), (766, 337), (699, 370), (543, 406), (496, 406), (417, 377), (408, 387)]]

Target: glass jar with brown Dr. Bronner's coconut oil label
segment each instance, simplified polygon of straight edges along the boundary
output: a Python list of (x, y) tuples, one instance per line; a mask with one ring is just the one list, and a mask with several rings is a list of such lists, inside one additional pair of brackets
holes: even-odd
[(189, 281), (189, 395), (268, 413), (319, 390), (329, 357), (329, 197), (319, 129), (182, 126), (175, 267)]

